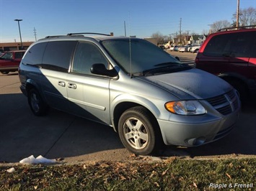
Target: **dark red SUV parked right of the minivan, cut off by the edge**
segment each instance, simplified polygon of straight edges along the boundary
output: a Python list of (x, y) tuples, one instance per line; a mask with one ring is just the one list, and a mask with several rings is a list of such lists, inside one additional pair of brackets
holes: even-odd
[(239, 91), (242, 100), (256, 94), (256, 28), (226, 28), (210, 34), (198, 51), (195, 67), (218, 75)]

